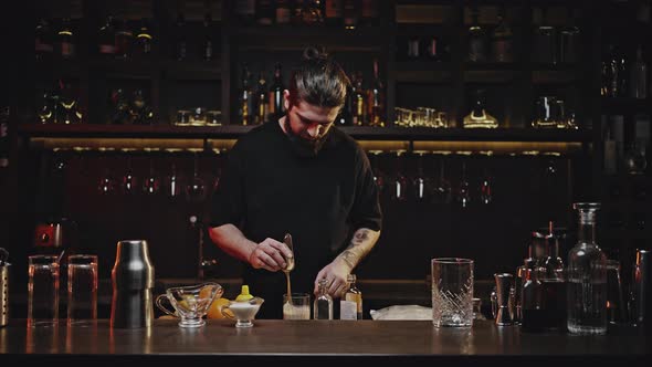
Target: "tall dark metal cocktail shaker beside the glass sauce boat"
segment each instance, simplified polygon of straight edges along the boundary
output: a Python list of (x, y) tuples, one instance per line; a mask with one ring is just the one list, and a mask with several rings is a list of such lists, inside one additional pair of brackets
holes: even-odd
[(147, 241), (119, 241), (111, 272), (113, 298), (111, 327), (139, 328), (151, 326), (154, 318), (154, 266), (149, 261)]

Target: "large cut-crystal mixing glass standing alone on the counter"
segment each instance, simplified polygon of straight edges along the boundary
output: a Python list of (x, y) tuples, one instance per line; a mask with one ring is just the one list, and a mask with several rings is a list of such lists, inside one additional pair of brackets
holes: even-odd
[(431, 260), (432, 323), (435, 327), (473, 325), (473, 260)]

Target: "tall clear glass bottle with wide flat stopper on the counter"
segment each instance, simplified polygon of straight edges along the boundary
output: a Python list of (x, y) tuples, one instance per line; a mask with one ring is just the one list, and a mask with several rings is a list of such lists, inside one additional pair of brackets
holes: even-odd
[(607, 256), (596, 243), (600, 203), (577, 202), (577, 244), (568, 252), (568, 318), (571, 334), (607, 333)]

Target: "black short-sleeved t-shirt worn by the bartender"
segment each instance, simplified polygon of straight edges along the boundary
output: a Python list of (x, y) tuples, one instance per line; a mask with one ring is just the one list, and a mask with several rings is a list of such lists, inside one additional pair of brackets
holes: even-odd
[[(316, 157), (302, 157), (277, 122), (233, 146), (211, 207), (211, 227), (231, 223), (256, 243), (291, 233), (292, 292), (312, 294), (317, 273), (349, 243), (353, 231), (381, 227), (378, 187), (365, 151), (332, 127)], [(244, 284), (265, 303), (259, 318), (282, 318), (285, 275), (245, 266)]]

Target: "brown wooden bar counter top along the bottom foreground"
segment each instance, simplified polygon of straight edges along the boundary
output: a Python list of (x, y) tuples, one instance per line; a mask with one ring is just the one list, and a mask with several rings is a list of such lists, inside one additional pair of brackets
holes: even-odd
[[(622, 328), (603, 336), (527, 334), (518, 327), (476, 322), (471, 329), (435, 328), (429, 321), (272, 321), (252, 328), (209, 319), (200, 328), (181, 328), (175, 319), (156, 319), (150, 328), (112, 329), (107, 319), (87, 327), (28, 328), (12, 319), (0, 328), (0, 366), (6, 360), (52, 361), (66, 366), (183, 363), (337, 361), (374, 366), (423, 363), (467, 365), (490, 359), (520, 365), (581, 358), (650, 366), (648, 335)], [(50, 363), (49, 363), (50, 364)], [(277, 364), (274, 364), (277, 366)], [(11, 366), (17, 366), (11, 364)], [(430, 364), (434, 366), (434, 364)], [(440, 365), (441, 366), (441, 365)]]

